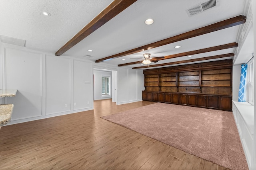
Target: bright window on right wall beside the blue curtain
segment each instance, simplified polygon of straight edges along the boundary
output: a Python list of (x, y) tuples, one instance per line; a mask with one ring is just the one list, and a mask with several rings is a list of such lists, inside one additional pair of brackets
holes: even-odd
[(247, 65), (247, 89), (246, 89), (246, 94), (247, 94), (247, 98), (248, 98), (248, 102), (252, 105), (254, 105), (254, 88), (253, 88), (253, 84), (254, 84), (254, 76), (253, 76), (253, 72), (254, 72), (254, 60), (251, 60), (248, 65)]

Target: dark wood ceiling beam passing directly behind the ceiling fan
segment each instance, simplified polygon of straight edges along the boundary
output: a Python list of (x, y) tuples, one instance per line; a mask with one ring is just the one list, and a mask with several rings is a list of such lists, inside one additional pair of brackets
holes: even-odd
[[(184, 56), (188, 56), (188, 55), (195, 55), (195, 54), (200, 54), (200, 53), (207, 53), (207, 52), (212, 52), (212, 51), (218, 51), (218, 50), (223, 50), (223, 49), (229, 49), (229, 48), (234, 48), (234, 47), (237, 47), (237, 46), (238, 46), (238, 43), (228, 43), (228, 44), (218, 45), (218, 46), (209, 47), (209, 48), (205, 48), (205, 49), (188, 51), (188, 52), (185, 52), (185, 53), (179, 53), (179, 54), (174, 54), (174, 55), (167, 55), (167, 56), (164, 56), (164, 59), (158, 59), (158, 61), (166, 60), (166, 59), (173, 59), (173, 58), (176, 58), (176, 57), (184, 57)], [(132, 65), (132, 64), (138, 64), (138, 63), (142, 63), (142, 61), (137, 61), (137, 62), (132, 62), (132, 63), (125, 63), (125, 64), (119, 64), (118, 66), (128, 66), (128, 65)], [(154, 64), (154, 65), (156, 65), (156, 64)]]

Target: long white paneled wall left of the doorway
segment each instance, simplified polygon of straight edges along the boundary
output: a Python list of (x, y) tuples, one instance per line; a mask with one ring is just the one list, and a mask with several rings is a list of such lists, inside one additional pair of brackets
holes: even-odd
[(6, 43), (1, 54), (0, 84), (18, 90), (0, 99), (14, 104), (10, 124), (93, 109), (92, 62)]

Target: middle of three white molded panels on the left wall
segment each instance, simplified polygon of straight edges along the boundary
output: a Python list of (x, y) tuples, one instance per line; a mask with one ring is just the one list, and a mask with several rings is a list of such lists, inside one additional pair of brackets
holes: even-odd
[(70, 110), (71, 60), (46, 55), (46, 115)]

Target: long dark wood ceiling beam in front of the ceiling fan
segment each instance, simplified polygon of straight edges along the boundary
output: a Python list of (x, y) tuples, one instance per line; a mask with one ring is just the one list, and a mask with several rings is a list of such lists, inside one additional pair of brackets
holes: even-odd
[(138, 48), (135, 48), (135, 49), (131, 49), (131, 50), (122, 52), (122, 53), (111, 55), (109, 57), (98, 59), (95, 62), (100, 63), (100, 62), (103, 62), (103, 61), (108, 61), (108, 60), (115, 59), (115, 58), (118, 58), (118, 57), (122, 57), (122, 56), (125, 56), (125, 55), (130, 55), (130, 54), (138, 53), (138, 52), (145, 51), (145, 50), (148, 50), (148, 49), (152, 49), (152, 48), (155, 48), (155, 47), (160, 47), (162, 45), (166, 45), (166, 44), (174, 43), (174, 42), (181, 41), (181, 40), (184, 40), (184, 39), (196, 37), (198, 35), (211, 33), (211, 32), (218, 31), (220, 29), (225, 29), (225, 28), (228, 28), (228, 27), (232, 27), (232, 26), (235, 26), (235, 25), (240, 25), (242, 23), (245, 23), (245, 21), (246, 21), (246, 16), (242, 16), (242, 15), (236, 16), (234, 18), (230, 18), (230, 19), (220, 21), (220, 22), (217, 22), (217, 23), (205, 26), (205, 27), (201, 27), (201, 28), (198, 28), (198, 29), (195, 29), (195, 30), (192, 30), (192, 31), (188, 31), (186, 33), (182, 33), (180, 35), (176, 35), (174, 37), (170, 37), (170, 38), (167, 38), (167, 39), (163, 39), (161, 41), (157, 41), (157, 42), (154, 42), (154, 43), (151, 43), (151, 44), (148, 44), (148, 45), (144, 45), (142, 47), (138, 47)]

